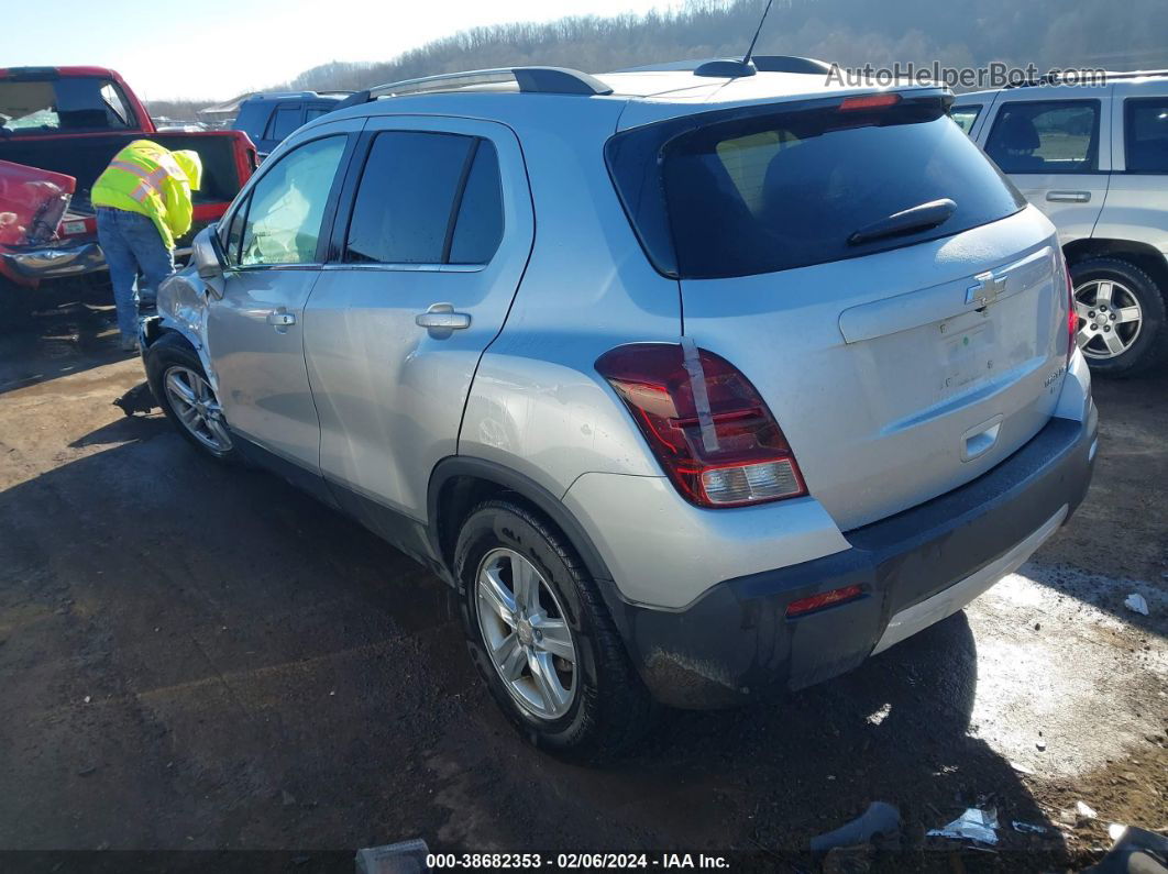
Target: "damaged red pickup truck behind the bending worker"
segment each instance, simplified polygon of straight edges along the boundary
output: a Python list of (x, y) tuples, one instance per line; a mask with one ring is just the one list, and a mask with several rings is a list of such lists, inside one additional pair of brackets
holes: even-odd
[(194, 225), (178, 242), (181, 251), (223, 215), (255, 170), (248, 134), (160, 132), (113, 70), (0, 69), (0, 296), (104, 270), (90, 188), (123, 146), (144, 138), (194, 149), (203, 161)]

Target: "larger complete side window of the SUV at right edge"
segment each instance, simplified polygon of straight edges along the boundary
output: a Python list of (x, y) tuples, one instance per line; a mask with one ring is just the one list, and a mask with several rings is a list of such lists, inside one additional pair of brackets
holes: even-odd
[(1099, 102), (1007, 103), (986, 154), (1006, 173), (1092, 173), (1099, 168)]

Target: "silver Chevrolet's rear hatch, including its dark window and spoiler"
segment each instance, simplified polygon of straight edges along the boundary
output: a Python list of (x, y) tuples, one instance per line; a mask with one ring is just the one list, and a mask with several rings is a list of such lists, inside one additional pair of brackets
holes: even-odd
[(1057, 240), (950, 99), (741, 106), (606, 147), (683, 333), (755, 384), (843, 530), (1006, 459), (1062, 382)]

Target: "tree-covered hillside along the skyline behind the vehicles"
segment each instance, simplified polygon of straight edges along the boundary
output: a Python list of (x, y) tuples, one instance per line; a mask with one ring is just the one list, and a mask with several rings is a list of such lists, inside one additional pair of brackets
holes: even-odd
[[(456, 33), (385, 63), (336, 61), (281, 86), (361, 89), (382, 82), (519, 64), (600, 72), (677, 58), (742, 55), (765, 0), (696, 0), (673, 13), (572, 18)], [(391, 6), (387, 7), (387, 15)], [(1168, 68), (1168, 2), (1125, 0), (776, 0), (758, 54), (861, 67)]]

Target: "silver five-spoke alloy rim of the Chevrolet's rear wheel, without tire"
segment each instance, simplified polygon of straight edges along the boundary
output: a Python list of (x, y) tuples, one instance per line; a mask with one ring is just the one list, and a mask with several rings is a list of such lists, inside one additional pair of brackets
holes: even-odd
[(496, 548), (475, 578), (479, 629), (515, 702), (538, 719), (564, 715), (576, 695), (576, 646), (556, 593), (514, 550)]

